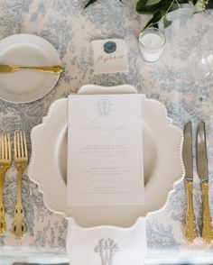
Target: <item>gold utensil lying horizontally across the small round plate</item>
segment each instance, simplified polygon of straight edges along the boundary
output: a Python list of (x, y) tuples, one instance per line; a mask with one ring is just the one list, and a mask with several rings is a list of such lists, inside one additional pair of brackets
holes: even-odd
[(37, 70), (41, 71), (44, 73), (49, 73), (53, 75), (59, 75), (62, 71), (63, 68), (60, 65), (56, 66), (42, 66), (42, 67), (20, 67), (20, 66), (14, 66), (14, 65), (0, 65), (0, 73), (14, 73), (15, 71), (22, 70), (22, 69), (27, 69), (27, 70)]

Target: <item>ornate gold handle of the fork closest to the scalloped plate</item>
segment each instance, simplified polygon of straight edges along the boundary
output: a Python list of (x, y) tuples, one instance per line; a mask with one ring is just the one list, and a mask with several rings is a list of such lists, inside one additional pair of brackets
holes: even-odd
[(23, 172), (18, 170), (17, 202), (14, 210), (14, 223), (12, 227), (12, 233), (14, 233), (16, 239), (22, 239), (23, 235), (27, 231), (27, 227), (24, 222), (24, 210), (22, 202), (22, 177)]

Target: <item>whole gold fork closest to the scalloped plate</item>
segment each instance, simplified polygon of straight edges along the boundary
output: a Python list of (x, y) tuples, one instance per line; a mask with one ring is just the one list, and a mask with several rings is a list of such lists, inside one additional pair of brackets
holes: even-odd
[(26, 233), (26, 224), (24, 222), (23, 196), (22, 196), (22, 178), (23, 171), (28, 165), (28, 152), (26, 137), (24, 132), (14, 132), (14, 166), (18, 172), (17, 200), (14, 209), (14, 223), (12, 233), (16, 239), (22, 239)]

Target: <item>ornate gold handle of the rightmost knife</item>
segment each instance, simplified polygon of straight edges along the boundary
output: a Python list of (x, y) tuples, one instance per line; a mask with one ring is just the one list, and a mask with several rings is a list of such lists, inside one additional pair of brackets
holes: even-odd
[(213, 241), (213, 230), (211, 226), (211, 215), (208, 202), (208, 183), (202, 183), (201, 188), (203, 201), (202, 240), (209, 245)]

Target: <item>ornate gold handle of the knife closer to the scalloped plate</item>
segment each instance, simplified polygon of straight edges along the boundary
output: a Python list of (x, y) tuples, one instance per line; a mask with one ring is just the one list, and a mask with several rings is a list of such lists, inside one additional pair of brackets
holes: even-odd
[(188, 243), (192, 244), (198, 237), (198, 231), (195, 222), (194, 206), (193, 206), (193, 183), (192, 181), (186, 182), (187, 190), (187, 213), (184, 236)]

